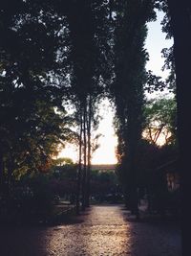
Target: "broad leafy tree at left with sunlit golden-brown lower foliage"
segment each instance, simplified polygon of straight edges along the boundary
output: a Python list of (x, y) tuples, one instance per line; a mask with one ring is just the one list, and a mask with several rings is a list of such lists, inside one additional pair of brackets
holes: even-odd
[(17, 4), (12, 10), (4, 3), (0, 21), (0, 175), (7, 183), (13, 173), (47, 169), (70, 134), (60, 88), (50, 78), (57, 66), (57, 16), (48, 5), (42, 12), (34, 2)]

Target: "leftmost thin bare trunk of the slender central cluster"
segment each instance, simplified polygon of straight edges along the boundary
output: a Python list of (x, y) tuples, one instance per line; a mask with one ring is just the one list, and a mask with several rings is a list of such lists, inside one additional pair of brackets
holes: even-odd
[(80, 195), (81, 195), (81, 156), (82, 156), (82, 113), (80, 111), (80, 128), (79, 128), (79, 159), (77, 171), (77, 187), (76, 187), (76, 214), (79, 214)]

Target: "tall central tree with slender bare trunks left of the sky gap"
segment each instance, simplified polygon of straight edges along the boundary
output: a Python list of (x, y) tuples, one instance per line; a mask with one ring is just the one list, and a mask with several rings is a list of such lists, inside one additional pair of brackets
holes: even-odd
[[(96, 123), (96, 101), (102, 93), (104, 80), (108, 80), (109, 77), (106, 65), (107, 48), (109, 48), (105, 33), (107, 14), (108, 4), (102, 4), (100, 1), (74, 3), (67, 13), (72, 42), (71, 81), (79, 126), (79, 173), (83, 163), (81, 185), (83, 209), (89, 205), (91, 134)], [(79, 197), (79, 191), (77, 194)]]

